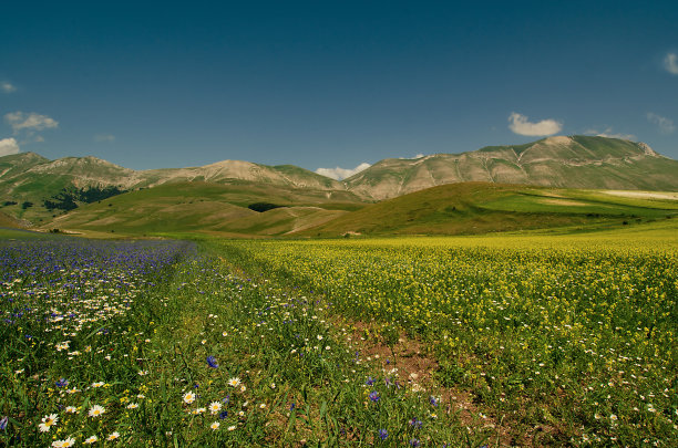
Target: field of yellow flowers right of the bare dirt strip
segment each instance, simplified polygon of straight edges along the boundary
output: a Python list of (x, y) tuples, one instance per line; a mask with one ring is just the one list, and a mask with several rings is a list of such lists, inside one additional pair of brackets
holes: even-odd
[(220, 242), (336, 313), (393, 329), (516, 445), (670, 446), (678, 235), (658, 222), (561, 236)]

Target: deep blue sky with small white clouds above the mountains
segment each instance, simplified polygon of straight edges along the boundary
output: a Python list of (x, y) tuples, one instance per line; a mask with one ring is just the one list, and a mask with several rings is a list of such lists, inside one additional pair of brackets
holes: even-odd
[(0, 154), (350, 170), (604, 134), (678, 158), (678, 2), (555, 3), (10, 2)]

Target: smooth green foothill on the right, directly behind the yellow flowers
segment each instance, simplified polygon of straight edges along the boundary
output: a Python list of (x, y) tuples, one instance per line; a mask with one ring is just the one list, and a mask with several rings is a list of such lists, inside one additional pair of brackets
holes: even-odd
[(562, 226), (616, 226), (675, 215), (678, 215), (678, 201), (615, 197), (589, 190), (466, 183), (374, 204), (300, 235), (484, 233)]

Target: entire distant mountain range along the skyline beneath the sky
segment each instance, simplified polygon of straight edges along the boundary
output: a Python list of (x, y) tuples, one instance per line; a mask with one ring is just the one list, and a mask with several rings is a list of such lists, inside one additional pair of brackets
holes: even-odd
[[(307, 205), (341, 202), (340, 208), (346, 208), (347, 204), (369, 204), (466, 181), (678, 191), (678, 162), (657, 154), (644, 143), (592, 136), (548, 137), (525, 145), (489, 146), (413, 159), (389, 158), (343, 181), (292, 165), (267, 166), (242, 160), (133, 170), (95, 157), (49, 160), (34, 153), (0, 157), (3, 211), (25, 219), (53, 215), (44, 204), (61, 191), (92, 187), (131, 191), (178, 183), (239, 185), (253, 191), (258, 188), (261, 200), (271, 191), (264, 187), (275, 187), (289, 197), (296, 195)], [(248, 200), (251, 199), (250, 195)]]

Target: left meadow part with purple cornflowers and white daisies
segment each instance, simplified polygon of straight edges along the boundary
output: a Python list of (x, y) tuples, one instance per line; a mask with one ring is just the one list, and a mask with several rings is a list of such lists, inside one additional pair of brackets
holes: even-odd
[(0, 244), (0, 444), (477, 447), (493, 437), (357, 352), (328, 300), (224, 256), (176, 241)]

